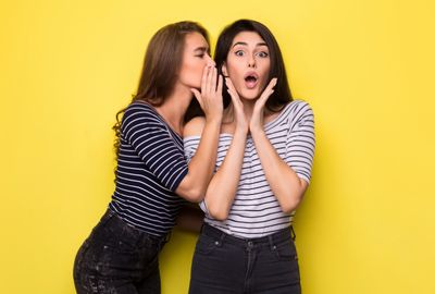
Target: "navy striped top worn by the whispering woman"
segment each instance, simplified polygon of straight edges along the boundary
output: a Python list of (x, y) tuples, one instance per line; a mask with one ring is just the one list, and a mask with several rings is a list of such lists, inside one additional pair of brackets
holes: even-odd
[(174, 191), (187, 174), (183, 139), (151, 106), (134, 102), (121, 125), (116, 187), (110, 209), (152, 235), (175, 224), (185, 203)]

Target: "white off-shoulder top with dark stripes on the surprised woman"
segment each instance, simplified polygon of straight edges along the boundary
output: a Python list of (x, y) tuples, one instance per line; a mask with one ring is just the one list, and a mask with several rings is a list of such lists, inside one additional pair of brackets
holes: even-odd
[[(281, 113), (264, 125), (265, 134), (279, 157), (308, 183), (314, 156), (314, 119), (310, 106), (301, 100), (288, 103)], [(199, 136), (184, 138), (187, 160), (196, 152)], [(221, 134), (217, 147), (217, 170), (231, 146), (233, 136)], [(291, 224), (295, 211), (284, 213), (274, 196), (256, 150), (252, 137), (248, 135), (245, 147), (240, 181), (228, 218), (214, 220), (207, 211), (204, 201), (200, 204), (206, 212), (204, 221), (223, 232), (244, 238), (273, 234)]]

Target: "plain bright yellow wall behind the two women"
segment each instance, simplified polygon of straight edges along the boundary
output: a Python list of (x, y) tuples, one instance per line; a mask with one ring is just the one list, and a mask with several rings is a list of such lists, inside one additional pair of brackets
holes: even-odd
[[(0, 2), (0, 293), (74, 293), (77, 248), (113, 191), (115, 112), (161, 26), (214, 42), (251, 17), (274, 32), (315, 113), (296, 217), (306, 294), (435, 293), (433, 1)], [(196, 235), (174, 232), (163, 293), (186, 293)]]

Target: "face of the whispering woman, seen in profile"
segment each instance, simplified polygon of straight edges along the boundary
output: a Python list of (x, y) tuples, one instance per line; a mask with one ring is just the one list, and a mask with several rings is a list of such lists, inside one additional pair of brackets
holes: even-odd
[(179, 69), (178, 82), (188, 88), (200, 88), (202, 72), (206, 66), (214, 66), (210, 58), (209, 44), (199, 33), (189, 33), (185, 37), (183, 61)]

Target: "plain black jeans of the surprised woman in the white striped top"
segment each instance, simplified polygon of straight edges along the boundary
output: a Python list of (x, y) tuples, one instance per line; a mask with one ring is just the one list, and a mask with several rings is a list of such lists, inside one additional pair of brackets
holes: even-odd
[(190, 294), (300, 294), (291, 228), (238, 238), (202, 226), (191, 265)]

